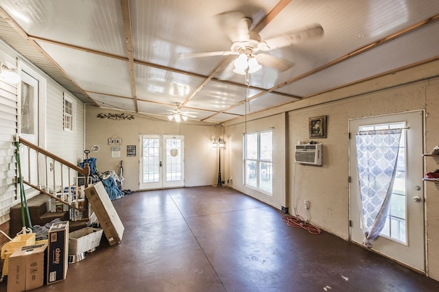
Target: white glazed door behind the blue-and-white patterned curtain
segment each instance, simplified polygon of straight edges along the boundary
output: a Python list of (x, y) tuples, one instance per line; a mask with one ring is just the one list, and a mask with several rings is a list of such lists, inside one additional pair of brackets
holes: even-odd
[[(423, 112), (406, 112), (349, 121), (351, 241), (362, 243), (361, 211), (355, 133), (385, 127), (403, 127), (390, 211), (372, 250), (425, 271), (423, 195)], [(419, 198), (419, 199), (418, 199)]]

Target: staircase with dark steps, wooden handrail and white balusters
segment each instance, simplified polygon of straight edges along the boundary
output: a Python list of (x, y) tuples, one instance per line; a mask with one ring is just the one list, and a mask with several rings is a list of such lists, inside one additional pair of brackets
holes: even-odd
[[(84, 187), (88, 186), (88, 164), (85, 164), (84, 169), (82, 169), (29, 141), (25, 141), (23, 138), (19, 138), (18, 141), (20, 145), (20, 147), (17, 146), (18, 153), (27, 154), (27, 159), (20, 160), (18, 159), (19, 154), (17, 155), (17, 161), (20, 161), (21, 169), (27, 169), (27, 175), (23, 175), (21, 182), (40, 192), (31, 199), (27, 199), (27, 208), (29, 209), (32, 226), (45, 226), (46, 223), (59, 218), (62, 221), (70, 221), (70, 231), (86, 227), (90, 210), (88, 200), (84, 196), (84, 204), (79, 206), (78, 202), (74, 202), (75, 195), (71, 190), (75, 190), (76, 195), (79, 196), (79, 177), (84, 180)], [(32, 168), (36, 169), (36, 173), (31, 177)], [(67, 188), (68, 193), (64, 193), (65, 188)], [(58, 189), (61, 193), (67, 194), (67, 200), (64, 200), (64, 196), (58, 196)], [(54, 193), (54, 190), (56, 190), (56, 193)], [(50, 205), (53, 200), (68, 206), (67, 210), (69, 211), (51, 212)], [(71, 211), (75, 210), (78, 210), (82, 217), (71, 216)], [(73, 218), (75, 221), (71, 221)], [(26, 226), (29, 227), (27, 214), (25, 214), (25, 219)], [(21, 203), (19, 203), (10, 208), (10, 236), (16, 236), (22, 230), (22, 226)]]

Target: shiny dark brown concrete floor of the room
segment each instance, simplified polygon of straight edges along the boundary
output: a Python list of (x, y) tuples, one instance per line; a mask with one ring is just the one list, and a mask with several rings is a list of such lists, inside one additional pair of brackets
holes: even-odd
[(121, 243), (103, 235), (66, 280), (34, 291), (439, 291), (363, 247), (289, 227), (279, 210), (231, 188), (145, 191), (113, 204)]

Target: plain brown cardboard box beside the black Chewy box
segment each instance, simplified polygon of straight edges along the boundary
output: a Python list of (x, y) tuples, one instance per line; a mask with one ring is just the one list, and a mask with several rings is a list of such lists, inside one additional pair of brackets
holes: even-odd
[(8, 292), (43, 286), (47, 243), (20, 247), (9, 257)]

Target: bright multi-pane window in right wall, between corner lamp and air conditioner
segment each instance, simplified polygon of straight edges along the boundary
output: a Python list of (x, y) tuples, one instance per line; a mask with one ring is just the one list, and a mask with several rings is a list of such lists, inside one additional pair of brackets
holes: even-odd
[(244, 134), (244, 184), (272, 195), (272, 131)]

